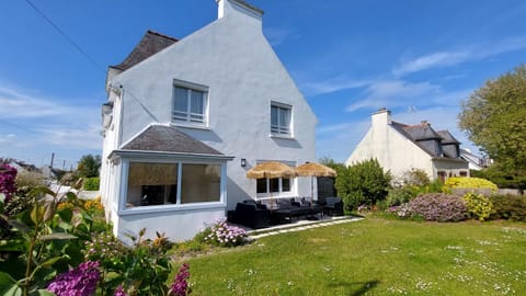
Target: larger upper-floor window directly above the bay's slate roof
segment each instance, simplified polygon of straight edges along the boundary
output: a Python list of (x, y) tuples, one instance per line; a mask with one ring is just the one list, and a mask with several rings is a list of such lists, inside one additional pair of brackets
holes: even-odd
[(208, 88), (184, 81), (174, 81), (173, 110), (174, 122), (192, 124), (207, 123)]

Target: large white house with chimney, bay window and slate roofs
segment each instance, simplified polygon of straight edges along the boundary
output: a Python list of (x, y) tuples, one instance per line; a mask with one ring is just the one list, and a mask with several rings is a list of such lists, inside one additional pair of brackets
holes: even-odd
[(148, 31), (108, 69), (101, 195), (122, 239), (146, 227), (184, 240), (240, 201), (310, 196), (307, 178), (247, 179), (262, 161), (315, 160), (317, 118), (263, 12), (216, 1), (216, 21), (181, 39)]

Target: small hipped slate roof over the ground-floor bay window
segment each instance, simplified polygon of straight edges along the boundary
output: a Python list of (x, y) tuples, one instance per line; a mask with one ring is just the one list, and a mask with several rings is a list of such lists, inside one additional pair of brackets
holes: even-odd
[(164, 125), (150, 125), (127, 143), (123, 150), (222, 156), (218, 150), (184, 134), (179, 128)]

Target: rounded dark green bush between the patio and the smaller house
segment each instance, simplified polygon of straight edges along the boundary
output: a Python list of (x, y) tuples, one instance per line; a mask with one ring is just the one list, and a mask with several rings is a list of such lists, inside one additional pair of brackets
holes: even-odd
[(347, 209), (354, 209), (386, 198), (390, 181), (390, 172), (384, 172), (378, 160), (369, 159), (339, 170), (335, 186)]

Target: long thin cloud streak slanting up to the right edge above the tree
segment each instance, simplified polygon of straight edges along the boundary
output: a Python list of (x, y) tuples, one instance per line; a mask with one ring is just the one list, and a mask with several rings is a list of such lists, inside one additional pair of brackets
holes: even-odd
[(511, 37), (502, 41), (473, 44), (451, 52), (437, 52), (426, 54), (402, 62), (392, 69), (397, 77), (419, 72), (433, 68), (444, 68), (470, 60), (480, 60), (503, 53), (526, 48), (526, 36)]

